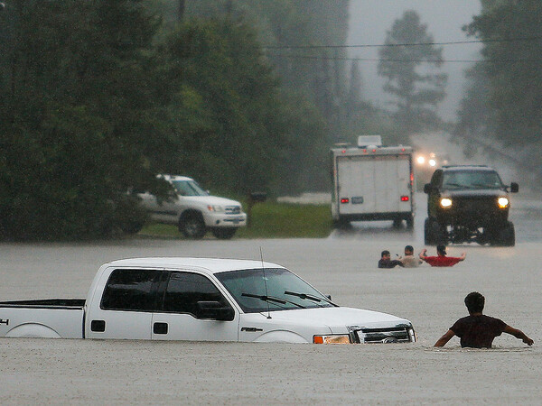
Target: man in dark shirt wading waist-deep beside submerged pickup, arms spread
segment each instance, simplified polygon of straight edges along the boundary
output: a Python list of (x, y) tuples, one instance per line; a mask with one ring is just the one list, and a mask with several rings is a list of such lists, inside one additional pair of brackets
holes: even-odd
[(491, 318), (482, 314), (485, 298), (481, 293), (473, 291), (465, 298), (465, 305), (469, 310), (469, 316), (460, 318), (453, 326), (440, 337), (435, 346), (444, 346), (453, 336), (460, 337), (461, 346), (472, 348), (491, 348), (493, 338), (499, 337), (503, 332), (519, 338), (528, 346), (533, 345), (533, 340), (517, 328), (511, 328), (499, 318)]

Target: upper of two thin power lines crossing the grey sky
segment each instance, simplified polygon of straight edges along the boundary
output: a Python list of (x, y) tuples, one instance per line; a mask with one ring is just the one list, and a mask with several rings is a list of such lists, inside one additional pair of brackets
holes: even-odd
[(416, 47), (429, 45), (463, 45), (468, 43), (487, 42), (530, 42), (542, 40), (542, 36), (516, 37), (516, 38), (493, 38), (487, 40), (448, 41), (448, 42), (405, 42), (405, 43), (380, 43), (360, 45), (262, 45), (266, 50), (318, 50), (318, 49), (343, 49), (343, 48), (386, 48), (386, 47)]

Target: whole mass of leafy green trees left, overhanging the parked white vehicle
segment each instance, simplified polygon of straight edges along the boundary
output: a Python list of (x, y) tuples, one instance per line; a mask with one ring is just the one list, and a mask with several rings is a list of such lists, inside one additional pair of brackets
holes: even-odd
[[(164, 25), (137, 0), (12, 0), (0, 15), (0, 235), (111, 235), (156, 173), (244, 193), (323, 183), (326, 123), (243, 18)], [(166, 29), (167, 27), (167, 29)]]

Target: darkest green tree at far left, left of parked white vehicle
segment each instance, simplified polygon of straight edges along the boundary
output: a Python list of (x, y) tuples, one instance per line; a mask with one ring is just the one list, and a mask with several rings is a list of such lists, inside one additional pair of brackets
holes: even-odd
[(157, 21), (132, 0), (9, 5), (0, 228), (15, 239), (107, 235), (140, 216), (126, 188), (153, 183), (147, 154), (167, 146), (154, 125)]

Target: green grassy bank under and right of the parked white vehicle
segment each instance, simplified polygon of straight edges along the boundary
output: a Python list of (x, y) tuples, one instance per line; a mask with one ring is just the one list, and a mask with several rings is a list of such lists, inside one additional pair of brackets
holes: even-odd
[[(323, 238), (331, 232), (332, 215), (329, 205), (268, 201), (254, 205), (250, 226), (240, 227), (234, 238)], [(177, 226), (162, 224), (149, 224), (139, 235), (183, 238)], [(206, 237), (214, 238), (210, 233)]]

